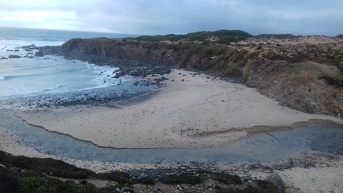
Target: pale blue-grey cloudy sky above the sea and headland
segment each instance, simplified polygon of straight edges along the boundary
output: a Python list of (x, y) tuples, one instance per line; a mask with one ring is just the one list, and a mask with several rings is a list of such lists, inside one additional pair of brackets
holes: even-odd
[(0, 26), (155, 35), (343, 33), (343, 0), (0, 0)]

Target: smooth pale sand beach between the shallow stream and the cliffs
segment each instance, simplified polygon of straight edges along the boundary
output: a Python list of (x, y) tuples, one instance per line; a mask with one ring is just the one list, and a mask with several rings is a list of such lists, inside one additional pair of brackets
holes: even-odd
[(16, 115), (50, 131), (116, 148), (218, 147), (245, 136), (245, 128), (254, 125), (283, 126), (313, 118), (340, 121), (282, 107), (241, 84), (179, 70), (167, 77), (167, 87), (136, 104), (76, 106)]

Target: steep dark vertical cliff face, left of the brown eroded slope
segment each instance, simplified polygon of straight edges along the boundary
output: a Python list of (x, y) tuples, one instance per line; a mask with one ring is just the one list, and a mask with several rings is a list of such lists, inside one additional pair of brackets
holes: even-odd
[(64, 43), (61, 50), (66, 58), (98, 65), (167, 65), (224, 76), (243, 76), (246, 63), (254, 57), (246, 50), (204, 43), (138, 42), (106, 38), (72, 39)]

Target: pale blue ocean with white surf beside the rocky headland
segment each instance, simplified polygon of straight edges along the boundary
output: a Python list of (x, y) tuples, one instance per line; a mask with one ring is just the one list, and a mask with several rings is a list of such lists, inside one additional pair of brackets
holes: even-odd
[[(0, 58), (9, 55), (32, 56), (19, 48), (61, 45), (72, 38), (123, 38), (129, 34), (62, 31), (0, 27)], [(16, 51), (14, 51), (16, 50)], [(19, 50), (19, 51), (18, 51)], [(116, 68), (96, 66), (82, 61), (66, 60), (61, 56), (11, 58), (0, 60), (0, 100), (53, 95), (117, 86), (132, 77), (113, 79)]]

